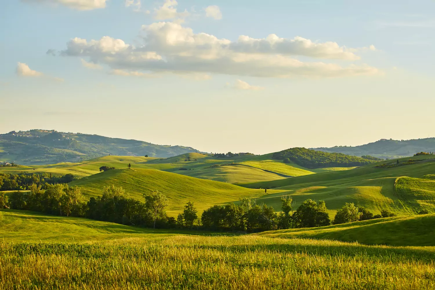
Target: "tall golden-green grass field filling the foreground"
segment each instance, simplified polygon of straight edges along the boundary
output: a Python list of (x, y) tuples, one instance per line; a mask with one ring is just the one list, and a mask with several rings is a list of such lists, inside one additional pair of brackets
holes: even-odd
[(435, 247), (182, 234), (10, 210), (0, 225), (1, 289), (435, 287)]

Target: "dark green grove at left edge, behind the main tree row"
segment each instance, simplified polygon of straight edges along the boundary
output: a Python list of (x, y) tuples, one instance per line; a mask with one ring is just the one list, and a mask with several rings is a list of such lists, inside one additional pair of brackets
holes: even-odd
[(0, 173), (0, 190), (29, 190), (33, 184), (45, 189), (47, 184), (69, 183), (74, 180), (74, 175), (65, 174), (53, 176), (51, 173), (44, 174), (7, 174)]

